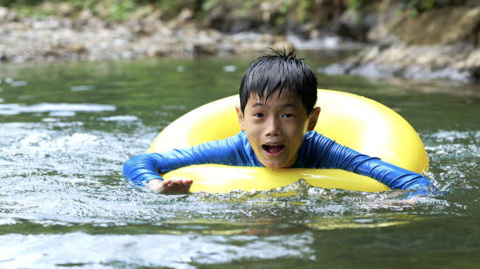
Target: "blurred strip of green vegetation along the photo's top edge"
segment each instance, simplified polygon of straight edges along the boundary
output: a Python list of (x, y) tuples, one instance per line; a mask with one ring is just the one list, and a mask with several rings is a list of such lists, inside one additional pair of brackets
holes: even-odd
[[(189, 8), (196, 19), (205, 18), (215, 6), (230, 6), (238, 9), (240, 13), (247, 13), (252, 8), (260, 8), (263, 2), (274, 7), (272, 22), (276, 27), (281, 27), (286, 22), (313, 21), (316, 23), (315, 27), (321, 27), (328, 24), (332, 16), (335, 16), (333, 14), (338, 14), (345, 8), (361, 14), (362, 9), (368, 5), (378, 5), (381, 8), (401, 3), (404, 7), (399, 9), (399, 13), (415, 18), (432, 8), (462, 4), (462, 0), (346, 0), (339, 6), (312, 0), (0, 0), (0, 6), (13, 9), (20, 18), (42, 18), (46, 15), (78, 18), (81, 11), (88, 10), (102, 20), (121, 22), (132, 18), (145, 18), (153, 13), (162, 20), (170, 20), (175, 18), (182, 8)], [(321, 16), (324, 18), (319, 19), (319, 14), (323, 14)], [(361, 20), (361, 16), (357, 17)], [(320, 20), (323, 21), (319, 22)]]

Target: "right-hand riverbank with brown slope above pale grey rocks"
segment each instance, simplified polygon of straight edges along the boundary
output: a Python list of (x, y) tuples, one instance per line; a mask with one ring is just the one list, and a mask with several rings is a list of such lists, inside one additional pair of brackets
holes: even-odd
[(370, 32), (377, 39), (373, 46), (317, 71), (328, 75), (480, 80), (478, 4), (436, 8), (415, 18), (390, 16), (377, 25)]

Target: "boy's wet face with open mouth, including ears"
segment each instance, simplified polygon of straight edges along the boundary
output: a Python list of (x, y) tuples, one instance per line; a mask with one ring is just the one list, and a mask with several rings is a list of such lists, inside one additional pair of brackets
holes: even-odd
[(246, 132), (262, 165), (272, 169), (291, 167), (297, 160), (305, 133), (314, 130), (320, 108), (307, 115), (302, 99), (295, 98), (293, 92), (289, 98), (287, 89), (282, 90), (279, 99), (276, 98), (279, 90), (274, 90), (265, 103), (265, 92), (262, 102), (251, 93), (244, 113), (236, 106), (241, 130)]

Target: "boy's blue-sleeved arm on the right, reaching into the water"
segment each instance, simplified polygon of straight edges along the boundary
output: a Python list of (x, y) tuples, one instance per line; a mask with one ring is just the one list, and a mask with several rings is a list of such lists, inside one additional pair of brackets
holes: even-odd
[(363, 155), (347, 146), (342, 146), (323, 135), (313, 135), (313, 150), (306, 156), (316, 158), (316, 168), (340, 168), (376, 179), (390, 188), (423, 189), (433, 186), (421, 174), (384, 162), (380, 158)]

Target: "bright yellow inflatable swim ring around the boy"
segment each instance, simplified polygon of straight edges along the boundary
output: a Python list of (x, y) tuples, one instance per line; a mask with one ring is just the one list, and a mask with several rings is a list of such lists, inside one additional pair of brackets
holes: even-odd
[[(175, 120), (156, 137), (149, 153), (182, 149), (239, 133), (234, 95), (194, 109)], [(427, 172), (428, 157), (422, 140), (413, 127), (392, 109), (371, 99), (333, 90), (319, 90), (321, 107), (316, 132), (335, 139), (368, 156), (422, 174)], [(191, 191), (227, 193), (235, 189), (269, 190), (305, 179), (321, 188), (349, 191), (386, 191), (385, 184), (353, 172), (338, 169), (236, 167), (229, 165), (192, 165), (162, 175), (164, 179), (193, 179)]]

